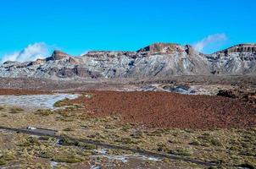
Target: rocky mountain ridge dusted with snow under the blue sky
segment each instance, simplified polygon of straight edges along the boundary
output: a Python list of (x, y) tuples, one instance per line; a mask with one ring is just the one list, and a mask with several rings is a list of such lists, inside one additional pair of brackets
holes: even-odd
[(155, 43), (136, 52), (93, 51), (81, 57), (54, 51), (46, 59), (0, 65), (0, 77), (11, 78), (168, 78), (213, 74), (256, 75), (256, 44), (239, 44), (213, 54), (174, 43)]

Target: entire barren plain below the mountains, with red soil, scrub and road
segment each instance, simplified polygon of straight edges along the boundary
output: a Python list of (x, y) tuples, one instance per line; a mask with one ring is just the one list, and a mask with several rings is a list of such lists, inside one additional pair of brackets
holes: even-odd
[[(0, 86), (0, 96), (19, 97), (23, 103), (2, 102), (0, 107), (2, 168), (254, 168), (256, 164), (253, 77), (1, 79)], [(52, 106), (40, 104), (47, 95)], [(69, 99), (70, 95), (76, 96)], [(56, 133), (51, 135), (52, 131)]]

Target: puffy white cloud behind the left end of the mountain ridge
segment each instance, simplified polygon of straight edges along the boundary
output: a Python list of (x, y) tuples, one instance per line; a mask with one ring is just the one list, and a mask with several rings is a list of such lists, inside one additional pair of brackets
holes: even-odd
[(37, 58), (45, 58), (49, 56), (49, 48), (44, 42), (37, 42), (26, 46), (19, 52), (13, 52), (11, 54), (5, 54), (2, 57), (1, 62), (15, 61), (15, 62), (26, 62), (34, 61)]

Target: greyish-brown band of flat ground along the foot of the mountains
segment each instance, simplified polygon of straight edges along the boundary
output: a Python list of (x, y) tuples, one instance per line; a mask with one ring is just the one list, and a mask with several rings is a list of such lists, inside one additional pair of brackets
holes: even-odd
[[(25, 90), (122, 90), (145, 85), (232, 85), (244, 90), (256, 90), (256, 76), (173, 76), (168, 79), (78, 79), (51, 80), (31, 78), (0, 78), (2, 89)], [(128, 85), (128, 86), (127, 86)]]

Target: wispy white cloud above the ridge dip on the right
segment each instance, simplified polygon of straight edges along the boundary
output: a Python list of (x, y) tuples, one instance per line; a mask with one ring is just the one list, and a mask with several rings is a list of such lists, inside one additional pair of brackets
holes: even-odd
[(220, 46), (226, 40), (227, 40), (227, 36), (225, 34), (208, 35), (207, 37), (203, 38), (203, 40), (196, 42), (192, 46), (198, 52), (204, 52), (204, 49), (209, 46), (212, 46), (211, 50), (215, 50), (215, 48)]

